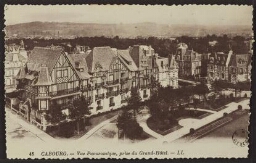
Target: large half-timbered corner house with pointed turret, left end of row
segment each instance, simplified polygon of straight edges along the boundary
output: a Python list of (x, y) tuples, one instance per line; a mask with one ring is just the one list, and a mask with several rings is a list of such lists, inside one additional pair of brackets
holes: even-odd
[[(60, 47), (35, 47), (26, 66), (17, 76), (19, 89), (25, 89), (26, 98), (31, 99), (33, 123), (45, 127), (45, 112), (58, 104), (68, 113), (69, 103), (81, 95), (80, 78), (74, 63)], [(21, 102), (22, 104), (22, 102)]]

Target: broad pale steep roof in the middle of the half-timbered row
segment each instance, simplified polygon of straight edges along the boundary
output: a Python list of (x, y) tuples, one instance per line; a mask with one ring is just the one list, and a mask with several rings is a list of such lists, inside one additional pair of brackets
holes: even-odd
[(94, 72), (95, 65), (100, 65), (102, 71), (109, 70), (113, 58), (115, 58), (115, 52), (109, 47), (95, 47), (86, 57), (86, 63), (89, 72)]

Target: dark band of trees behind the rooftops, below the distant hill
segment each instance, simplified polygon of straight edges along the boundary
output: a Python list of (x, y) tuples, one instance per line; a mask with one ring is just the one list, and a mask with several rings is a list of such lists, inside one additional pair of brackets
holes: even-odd
[[(75, 39), (12, 39), (6, 40), (6, 44), (19, 44), (23, 40), (25, 44), (25, 49), (30, 51), (36, 46), (45, 47), (51, 45), (63, 46), (65, 51), (73, 52), (76, 45), (88, 46), (91, 49), (100, 46), (110, 46), (117, 49), (127, 49), (129, 46), (133, 45), (151, 45), (155, 52), (161, 57), (167, 57), (169, 54), (175, 54), (177, 45), (181, 42), (186, 43), (189, 49), (193, 49), (198, 53), (209, 53), (209, 52), (228, 52), (233, 50), (237, 54), (246, 54), (249, 52), (249, 46), (246, 41), (249, 41), (243, 36), (235, 36), (233, 38), (227, 35), (217, 36), (217, 35), (207, 35), (205, 37), (189, 37), (181, 36), (175, 39), (168, 38), (120, 38), (118, 36), (109, 37), (77, 37)], [(216, 41), (215, 46), (209, 45), (209, 42)]]

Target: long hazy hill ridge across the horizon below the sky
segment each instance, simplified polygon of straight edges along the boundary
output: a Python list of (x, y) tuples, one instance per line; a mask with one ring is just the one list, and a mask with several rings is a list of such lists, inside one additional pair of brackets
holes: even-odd
[(182, 35), (200, 37), (207, 34), (231, 36), (249, 36), (251, 26), (202, 26), (202, 25), (164, 25), (156, 23), (135, 24), (93, 24), (93, 23), (58, 23), (30, 22), (6, 27), (7, 36), (17, 35), (48, 37), (177, 37)]

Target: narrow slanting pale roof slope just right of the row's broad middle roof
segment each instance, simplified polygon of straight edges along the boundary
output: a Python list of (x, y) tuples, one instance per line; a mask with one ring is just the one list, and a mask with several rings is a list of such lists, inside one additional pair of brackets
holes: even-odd
[(132, 57), (130, 56), (129, 49), (126, 50), (117, 50), (117, 55), (121, 62), (130, 70), (130, 71), (137, 71), (138, 67), (136, 66), (135, 62), (133, 61)]

